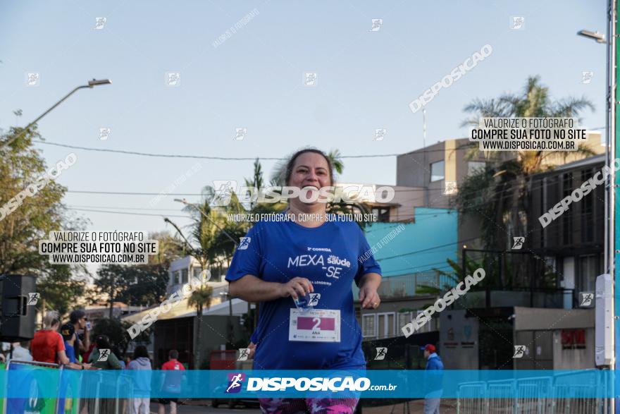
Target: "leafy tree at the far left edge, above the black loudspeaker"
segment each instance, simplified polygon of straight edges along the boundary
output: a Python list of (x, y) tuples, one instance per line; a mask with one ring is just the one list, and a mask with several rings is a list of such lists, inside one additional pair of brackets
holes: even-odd
[[(20, 116), (20, 111), (15, 114)], [(85, 221), (73, 217), (62, 204), (65, 187), (51, 177), (39, 180), (49, 177), (51, 167), (32, 145), (32, 140), (42, 139), (36, 126), (27, 131), (11, 127), (0, 133), (0, 207), (7, 203), (16, 207), (0, 212), (0, 274), (34, 274), (41, 293), (37, 308), (45, 310), (48, 304), (66, 312), (83, 293), (87, 270), (83, 265), (50, 264), (47, 255), (39, 255), (38, 242), (47, 239), (50, 231), (82, 230)], [(10, 202), (32, 184), (37, 184), (35, 195), (21, 203)]]

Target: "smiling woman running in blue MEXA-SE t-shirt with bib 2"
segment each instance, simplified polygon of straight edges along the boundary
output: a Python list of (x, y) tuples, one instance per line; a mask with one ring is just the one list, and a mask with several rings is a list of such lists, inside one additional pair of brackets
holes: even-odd
[[(252, 336), (254, 369), (365, 370), (352, 283), (359, 286), (361, 307), (377, 308), (380, 267), (368, 257), (371, 249), (359, 226), (328, 219), (326, 203), (312, 197), (313, 191), (333, 186), (333, 166), (323, 152), (297, 152), (285, 174), (285, 185), (299, 188), (299, 197), (290, 200), (280, 219), (250, 229), (226, 274), (231, 296), (261, 303)], [(283, 220), (285, 214), (294, 221)], [(358, 401), (259, 400), (263, 413), (352, 413)]]

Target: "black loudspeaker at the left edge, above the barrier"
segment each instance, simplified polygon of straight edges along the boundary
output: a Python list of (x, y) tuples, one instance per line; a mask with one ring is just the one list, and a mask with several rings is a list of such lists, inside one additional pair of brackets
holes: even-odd
[(0, 341), (27, 341), (35, 335), (37, 280), (32, 275), (0, 276)]

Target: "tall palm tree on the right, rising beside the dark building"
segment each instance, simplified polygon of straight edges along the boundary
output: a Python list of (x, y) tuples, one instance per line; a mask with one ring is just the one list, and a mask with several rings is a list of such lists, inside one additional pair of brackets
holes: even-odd
[[(519, 95), (473, 99), (464, 108), (473, 116), (462, 125), (478, 125), (481, 117), (572, 117), (581, 122), (579, 115), (585, 109), (594, 110), (588, 99), (553, 100), (548, 87), (540, 83), (540, 78), (531, 76)], [(478, 152), (478, 147), (474, 150)], [(593, 151), (580, 145), (577, 154), (587, 157)], [(547, 157), (566, 157), (566, 152), (488, 152), (485, 156), (492, 162), (461, 183), (454, 203), (461, 214), (481, 219), (481, 236), (488, 248), (508, 250), (512, 236), (525, 236), (527, 233), (531, 176), (545, 170), (543, 161)]]

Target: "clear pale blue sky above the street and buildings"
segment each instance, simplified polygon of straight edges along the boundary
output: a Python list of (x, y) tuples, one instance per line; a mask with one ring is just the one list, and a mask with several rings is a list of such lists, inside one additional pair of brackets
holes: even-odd
[[(510, 29), (511, 16), (525, 18), (523, 30)], [(94, 30), (97, 17), (107, 19), (102, 30)], [(373, 18), (383, 18), (378, 32), (369, 31)], [(466, 136), (465, 104), (519, 92), (528, 75), (540, 75), (553, 97), (590, 99), (596, 111), (584, 124), (597, 128), (605, 125), (605, 46), (578, 37), (581, 29), (605, 32), (605, 1), (1, 1), (0, 128), (16, 124), (15, 109), (25, 126), (73, 87), (110, 78), (40, 121), (44, 138), (218, 157), (284, 157), (305, 145), (345, 155), (409, 152), (422, 146), (422, 114), (409, 102), (484, 44), (491, 56), (426, 106), (428, 143)], [(593, 71), (590, 84), (582, 71)], [(38, 87), (25, 86), (27, 72), (40, 74)], [(180, 86), (166, 86), (166, 72), (180, 72)], [(302, 84), (304, 72), (318, 74), (316, 87)], [(99, 128), (111, 128), (108, 140)], [(233, 139), (235, 128), (247, 128), (244, 140)], [(387, 128), (384, 140), (373, 140), (375, 128)], [(199, 172), (175, 193), (252, 174), (252, 161), (37, 148), (49, 164), (77, 154), (59, 178), (70, 191), (159, 193), (196, 162)], [(267, 173), (272, 167), (263, 162)], [(340, 179), (395, 177), (395, 157), (387, 157), (345, 159)], [(152, 207), (153, 197), (68, 193), (64, 201), (136, 214), (76, 210), (92, 230), (171, 230), (158, 214), (182, 215), (181, 206), (171, 196)]]

